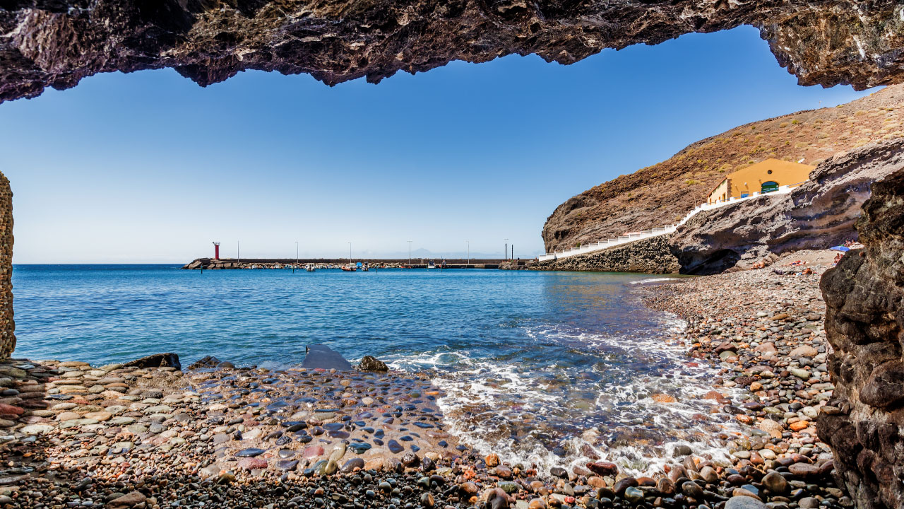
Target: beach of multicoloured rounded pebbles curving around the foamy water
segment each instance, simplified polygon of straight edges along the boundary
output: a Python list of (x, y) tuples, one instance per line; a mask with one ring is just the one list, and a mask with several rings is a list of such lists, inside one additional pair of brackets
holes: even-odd
[(459, 443), (410, 371), (19, 359), (0, 364), (0, 508), (851, 506), (814, 425), (833, 411), (828, 264), (779, 264), (636, 289), (686, 323), (664, 341), (719, 370), (720, 455), (669, 447), (649, 476), (511, 463)]

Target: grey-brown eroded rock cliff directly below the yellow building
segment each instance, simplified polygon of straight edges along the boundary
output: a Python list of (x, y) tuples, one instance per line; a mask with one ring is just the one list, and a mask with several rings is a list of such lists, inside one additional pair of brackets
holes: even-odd
[(825, 160), (786, 195), (765, 195), (693, 216), (671, 248), (685, 274), (744, 268), (771, 254), (824, 249), (856, 238), (854, 222), (873, 182), (904, 168), (904, 138)]

